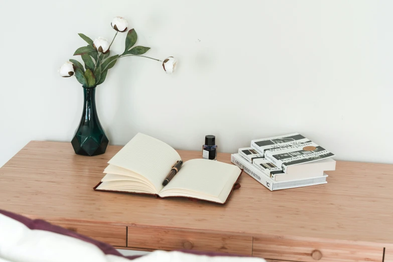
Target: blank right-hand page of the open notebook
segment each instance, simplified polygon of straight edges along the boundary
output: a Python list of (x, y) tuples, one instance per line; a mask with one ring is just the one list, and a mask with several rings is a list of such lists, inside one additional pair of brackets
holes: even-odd
[(179, 173), (162, 192), (169, 189), (187, 189), (217, 197), (226, 186), (233, 186), (239, 174), (240, 169), (234, 165), (207, 159), (193, 159), (183, 164)]

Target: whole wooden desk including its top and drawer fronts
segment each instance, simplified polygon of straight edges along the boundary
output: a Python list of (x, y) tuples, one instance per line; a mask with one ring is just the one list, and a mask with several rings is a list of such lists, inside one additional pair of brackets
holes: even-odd
[[(295, 261), (393, 261), (393, 165), (337, 162), (328, 184), (271, 192), (244, 174), (226, 205), (93, 191), (104, 155), (30, 142), (0, 169), (0, 208), (118, 248), (197, 249)], [(184, 160), (200, 152), (179, 151)], [(229, 154), (218, 160), (230, 162)]]

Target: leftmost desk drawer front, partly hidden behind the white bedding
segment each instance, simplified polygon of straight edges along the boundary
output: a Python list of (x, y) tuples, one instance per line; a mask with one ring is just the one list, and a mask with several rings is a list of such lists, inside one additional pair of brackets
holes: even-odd
[(88, 224), (79, 222), (48, 222), (111, 245), (126, 246), (126, 226)]

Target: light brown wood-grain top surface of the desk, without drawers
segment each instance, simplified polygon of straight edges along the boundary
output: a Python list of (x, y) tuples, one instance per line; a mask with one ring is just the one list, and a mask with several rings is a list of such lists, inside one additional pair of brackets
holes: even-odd
[[(393, 244), (393, 165), (337, 162), (327, 184), (274, 192), (243, 174), (241, 188), (218, 205), (94, 191), (120, 148), (85, 157), (70, 143), (30, 142), (0, 169), (0, 209), (54, 221)], [(230, 155), (218, 160), (230, 163)]]

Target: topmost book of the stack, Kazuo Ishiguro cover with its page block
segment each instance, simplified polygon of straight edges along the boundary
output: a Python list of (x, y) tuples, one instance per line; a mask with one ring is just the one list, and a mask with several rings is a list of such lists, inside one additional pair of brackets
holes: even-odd
[[(336, 167), (336, 162), (330, 159), (333, 153), (298, 133), (252, 140), (251, 148), (288, 174), (330, 171)], [(306, 165), (310, 166), (305, 168)]]

